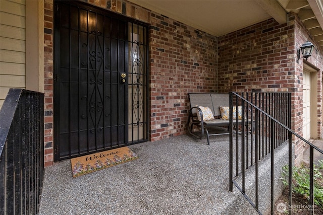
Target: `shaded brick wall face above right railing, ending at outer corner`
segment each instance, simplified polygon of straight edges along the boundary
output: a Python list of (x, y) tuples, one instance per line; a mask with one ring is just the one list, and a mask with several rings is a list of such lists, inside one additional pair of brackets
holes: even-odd
[(297, 91), (292, 22), (274, 19), (219, 38), (219, 91)]

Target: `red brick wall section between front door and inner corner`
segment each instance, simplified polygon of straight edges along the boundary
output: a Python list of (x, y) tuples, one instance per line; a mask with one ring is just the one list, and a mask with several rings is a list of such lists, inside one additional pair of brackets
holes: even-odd
[(151, 13), (150, 138), (185, 133), (189, 92), (216, 92), (217, 38)]

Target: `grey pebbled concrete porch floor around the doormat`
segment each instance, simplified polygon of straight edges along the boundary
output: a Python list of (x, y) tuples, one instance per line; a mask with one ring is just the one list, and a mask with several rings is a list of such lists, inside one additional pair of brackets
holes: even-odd
[(182, 135), (132, 145), (139, 159), (76, 178), (70, 160), (55, 163), (39, 214), (234, 214), (227, 204), (242, 195), (229, 191), (229, 135), (206, 143)]

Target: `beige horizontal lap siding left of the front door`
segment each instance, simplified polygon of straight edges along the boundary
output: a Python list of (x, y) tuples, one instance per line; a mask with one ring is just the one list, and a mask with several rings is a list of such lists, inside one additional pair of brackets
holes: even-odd
[(25, 0), (0, 0), (0, 108), (10, 88), (26, 87), (25, 17)]

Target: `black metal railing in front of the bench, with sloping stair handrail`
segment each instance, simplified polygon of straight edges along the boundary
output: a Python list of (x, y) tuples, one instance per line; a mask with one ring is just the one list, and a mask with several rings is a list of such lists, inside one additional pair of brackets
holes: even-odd
[[(241, 130), (233, 134), (233, 106), (241, 106)], [(251, 132), (245, 130), (252, 126)], [(274, 214), (275, 191), (275, 151), (284, 144), (288, 144), (289, 166), (289, 214), (293, 213), (292, 204), (292, 167), (293, 167), (293, 139), (299, 138), (310, 147), (310, 196), (308, 204), (313, 206), (313, 150), (323, 153), (310, 144), (306, 139), (291, 130), (291, 93), (230, 93), (230, 191), (235, 185), (246, 197), (250, 204), (262, 214), (259, 209), (259, 164), (264, 158), (270, 159), (270, 204), (271, 214)], [(243, 135), (244, 134), (244, 135)], [(235, 141), (235, 142), (234, 142)], [(276, 164), (277, 165), (277, 164)], [(246, 171), (254, 168), (254, 186), (252, 197), (246, 191)], [(280, 176), (278, 176), (280, 177)], [(249, 183), (250, 184), (250, 183)], [(310, 211), (311, 213), (313, 213)]]

